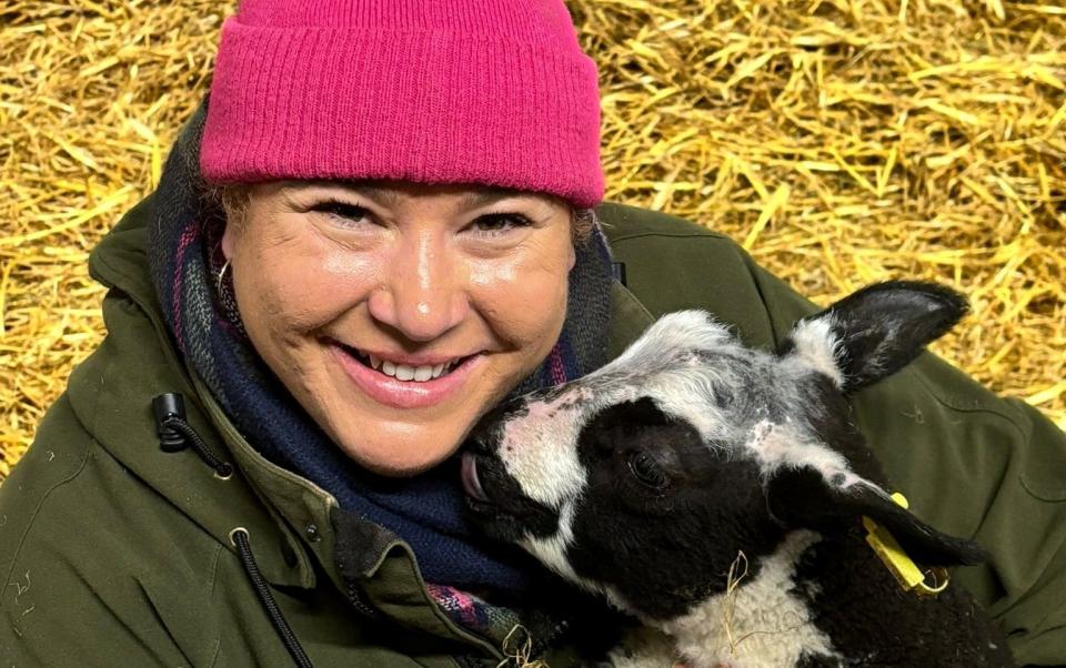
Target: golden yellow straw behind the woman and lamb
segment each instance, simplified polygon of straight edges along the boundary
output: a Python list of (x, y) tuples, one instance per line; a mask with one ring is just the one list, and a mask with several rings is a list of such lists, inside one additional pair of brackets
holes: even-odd
[[(1066, 6), (580, 0), (609, 198), (724, 231), (812, 298), (923, 277), (936, 346), (1066, 426)], [(93, 244), (158, 182), (228, 3), (0, 8), (0, 478), (102, 336)]]

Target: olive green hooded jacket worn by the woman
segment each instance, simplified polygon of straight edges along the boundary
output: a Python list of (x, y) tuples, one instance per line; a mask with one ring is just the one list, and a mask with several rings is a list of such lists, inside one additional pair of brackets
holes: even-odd
[[(235, 527), (315, 666), (496, 665), (500, 648), (439, 609), (386, 530), (366, 526), (364, 549), (339, 566), (334, 499), (260, 456), (190, 375), (149, 277), (153, 205), (138, 204), (93, 252), (108, 335), (0, 487), (0, 666), (292, 665), (231, 544)], [(611, 356), (670, 311), (705, 308), (772, 347), (813, 310), (720, 234), (622, 205), (600, 215), (626, 269)], [(162, 393), (184, 396), (189, 423), (235, 475), (161, 449), (151, 403)], [(1002, 623), (1017, 659), (1066, 662), (1066, 436), (929, 354), (854, 409), (912, 509), (990, 550), (956, 583)], [(576, 662), (566, 648), (546, 659)]]

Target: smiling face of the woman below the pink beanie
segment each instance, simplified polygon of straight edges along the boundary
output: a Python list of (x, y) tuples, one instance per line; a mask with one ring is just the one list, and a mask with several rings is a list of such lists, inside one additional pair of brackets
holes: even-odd
[(255, 350), (388, 475), (446, 458), (547, 356), (574, 263), (559, 200), (399, 182), (253, 185), (222, 247)]

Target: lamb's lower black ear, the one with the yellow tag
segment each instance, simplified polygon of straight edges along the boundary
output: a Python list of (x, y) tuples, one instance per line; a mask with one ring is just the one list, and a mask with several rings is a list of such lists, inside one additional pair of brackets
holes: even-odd
[(767, 483), (770, 512), (790, 528), (822, 532), (839, 530), (846, 523), (869, 517), (887, 528), (907, 555), (924, 566), (985, 560), (985, 551), (973, 540), (943, 534), (897, 505), (876, 485), (853, 474), (847, 478), (846, 484), (837, 485), (809, 467), (781, 470)]

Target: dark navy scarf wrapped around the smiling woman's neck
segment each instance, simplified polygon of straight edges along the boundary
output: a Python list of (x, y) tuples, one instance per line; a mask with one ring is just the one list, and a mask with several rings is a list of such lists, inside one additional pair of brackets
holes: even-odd
[[(167, 160), (149, 243), (160, 303), (188, 364), (253, 447), (332, 494), (341, 508), (406, 540), (428, 581), (523, 594), (535, 579), (533, 566), (467, 524), (454, 459), (403, 479), (368, 473), (341, 453), (252, 350), (231, 298), (215, 285), (224, 221), (217, 206), (204, 202), (199, 185), (205, 112), (207, 102)], [(605, 362), (612, 280), (610, 252), (596, 230), (577, 249), (562, 335), (512, 396), (584, 375)]]

